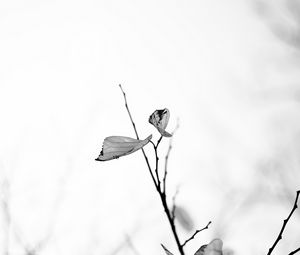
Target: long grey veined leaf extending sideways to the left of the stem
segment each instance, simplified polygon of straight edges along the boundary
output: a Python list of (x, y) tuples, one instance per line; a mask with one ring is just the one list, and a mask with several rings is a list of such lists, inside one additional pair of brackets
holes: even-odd
[(145, 140), (137, 140), (126, 136), (109, 136), (104, 139), (100, 155), (95, 160), (107, 161), (129, 155), (143, 148), (151, 140), (149, 135)]

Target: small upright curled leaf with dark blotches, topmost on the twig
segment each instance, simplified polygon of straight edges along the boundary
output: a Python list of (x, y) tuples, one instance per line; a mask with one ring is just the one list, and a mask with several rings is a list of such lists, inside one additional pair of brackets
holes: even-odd
[(170, 112), (167, 108), (165, 108), (153, 112), (149, 117), (149, 122), (156, 127), (162, 136), (171, 137), (172, 135), (165, 130), (168, 125), (169, 118)]

